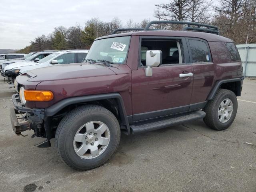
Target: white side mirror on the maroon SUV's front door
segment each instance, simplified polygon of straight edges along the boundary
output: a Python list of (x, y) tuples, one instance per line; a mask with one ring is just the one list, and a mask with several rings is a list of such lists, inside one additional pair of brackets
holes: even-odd
[(162, 64), (162, 51), (161, 50), (149, 50), (146, 53), (146, 76), (152, 76), (152, 67), (158, 67)]

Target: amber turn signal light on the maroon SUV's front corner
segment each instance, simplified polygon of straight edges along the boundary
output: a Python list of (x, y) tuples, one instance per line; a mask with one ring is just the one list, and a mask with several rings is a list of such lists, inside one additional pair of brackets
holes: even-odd
[(24, 90), (26, 101), (51, 101), (53, 93), (46, 90)]

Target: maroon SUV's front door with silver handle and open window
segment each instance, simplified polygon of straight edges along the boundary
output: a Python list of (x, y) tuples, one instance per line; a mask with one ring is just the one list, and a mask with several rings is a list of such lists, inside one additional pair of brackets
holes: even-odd
[[(188, 111), (193, 76), (185, 40), (141, 37), (140, 41), (138, 69), (132, 71), (133, 121)], [(147, 50), (162, 51), (162, 64), (153, 68), (152, 76), (145, 75)]]

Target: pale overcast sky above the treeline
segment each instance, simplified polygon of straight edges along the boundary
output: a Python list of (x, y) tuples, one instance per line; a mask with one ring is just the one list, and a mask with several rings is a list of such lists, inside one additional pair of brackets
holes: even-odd
[(156, 3), (168, 0), (1, 0), (0, 48), (21, 49), (30, 40), (48, 35), (56, 26), (84, 26), (92, 17), (111, 21), (114, 16), (123, 24), (130, 18), (140, 22), (153, 20)]

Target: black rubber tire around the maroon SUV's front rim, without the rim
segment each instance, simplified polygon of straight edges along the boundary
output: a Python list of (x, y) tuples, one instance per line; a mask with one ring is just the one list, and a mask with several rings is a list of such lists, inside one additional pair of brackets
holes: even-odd
[[(106, 124), (111, 137), (102, 154), (92, 159), (84, 159), (76, 154), (73, 140), (78, 129), (91, 121), (100, 121)], [(55, 138), (56, 148), (62, 160), (71, 168), (84, 171), (104, 164), (114, 154), (120, 141), (120, 125), (114, 114), (102, 106), (79, 106), (66, 114), (60, 121)]]

